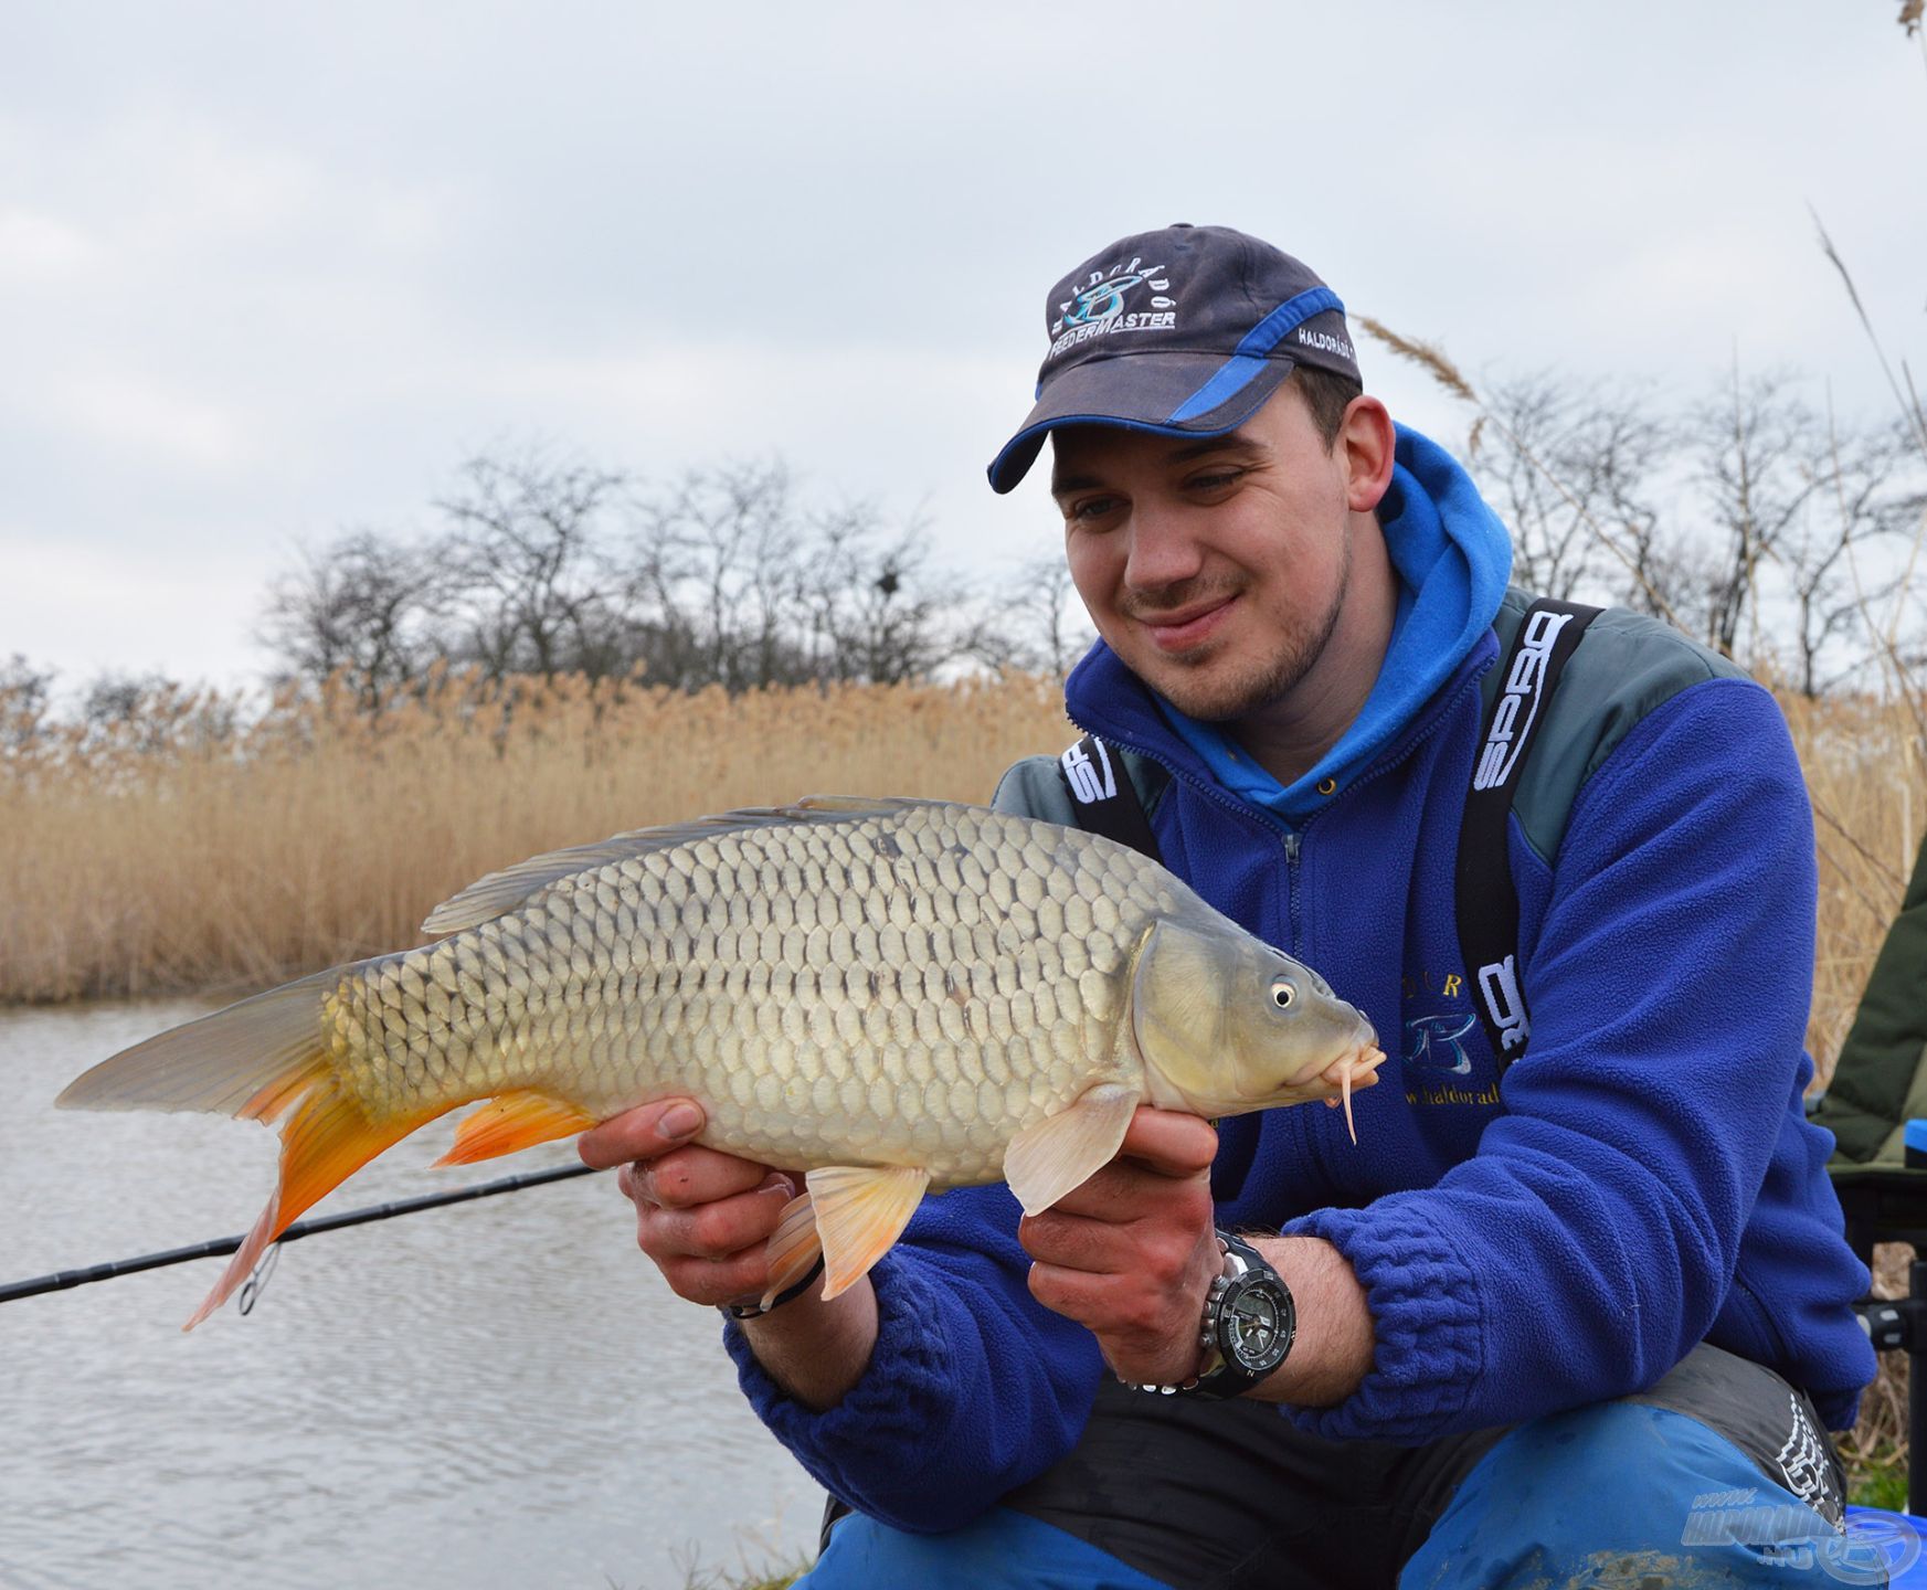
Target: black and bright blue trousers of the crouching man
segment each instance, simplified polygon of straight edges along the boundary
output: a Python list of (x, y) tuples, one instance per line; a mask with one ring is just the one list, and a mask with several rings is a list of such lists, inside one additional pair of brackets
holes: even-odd
[[(1131, 1395), (1100, 1397), (1075, 1461), (962, 1530), (842, 1519), (800, 1584), (1657, 1590), (1885, 1584), (1892, 1561), (1833, 1523), (1838, 1467), (1804, 1399), (1717, 1349), (1644, 1397), (1430, 1449), (1316, 1442), (1245, 1403), (1218, 1405), (1237, 1409), (1224, 1430), (1197, 1403), (1152, 1426), (1137, 1409), (1174, 1399)], [(1127, 1484), (1089, 1482), (1120, 1463)]]

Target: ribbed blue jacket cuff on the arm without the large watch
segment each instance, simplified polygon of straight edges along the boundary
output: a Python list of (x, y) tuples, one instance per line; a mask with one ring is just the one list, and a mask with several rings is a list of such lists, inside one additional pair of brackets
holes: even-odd
[(877, 1345), (856, 1386), (823, 1413), (804, 1407), (769, 1378), (736, 1320), (726, 1318), (723, 1326), (723, 1345), (736, 1361), (736, 1384), (757, 1418), (844, 1499), (861, 1490), (846, 1480), (846, 1463), (863, 1472), (886, 1455), (900, 1471), (906, 1451), (942, 1451), (956, 1417), (944, 1299), (898, 1253), (879, 1259), (869, 1280), (877, 1291)]

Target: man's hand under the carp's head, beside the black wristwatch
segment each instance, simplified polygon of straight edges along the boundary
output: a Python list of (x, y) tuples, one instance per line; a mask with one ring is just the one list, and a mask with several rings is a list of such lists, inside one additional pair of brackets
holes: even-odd
[(1031, 1293), (1089, 1328), (1125, 1380), (1175, 1384), (1197, 1374), (1204, 1293), (1220, 1270), (1216, 1153), (1218, 1133), (1206, 1122), (1141, 1106), (1118, 1158), (1017, 1226), (1037, 1260)]

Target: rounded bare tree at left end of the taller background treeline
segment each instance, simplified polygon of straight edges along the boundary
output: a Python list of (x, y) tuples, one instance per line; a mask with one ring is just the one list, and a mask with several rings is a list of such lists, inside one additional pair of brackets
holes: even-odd
[(416, 678), (439, 653), (449, 607), (443, 545), (407, 545), (356, 530), (326, 547), (303, 547), (301, 565), (268, 590), (258, 640), (279, 673), (324, 680), (345, 673), (374, 705)]

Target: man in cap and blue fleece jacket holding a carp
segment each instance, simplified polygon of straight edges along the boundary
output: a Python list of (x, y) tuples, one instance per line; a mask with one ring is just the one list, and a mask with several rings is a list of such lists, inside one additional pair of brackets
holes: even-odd
[[(1052, 441), (1102, 636), (1069, 715), (1123, 752), (1164, 861), (1366, 1012), (1389, 1085), (1357, 1145), (1328, 1110), (1141, 1110), (1050, 1212), (948, 1193), (832, 1303), (732, 1320), (757, 1413), (856, 1509), (807, 1582), (1825, 1578), (1819, 1426), (1873, 1359), (1800, 1108), (1813, 848), (1773, 700), (1594, 621), (1503, 829), (1517, 1025), (1488, 1037), (1455, 861), (1520, 707), (1486, 729), (1526, 601), (1503, 528), (1362, 393), (1337, 297), (1256, 239), (1122, 239), (1046, 326), (990, 480)], [(998, 804), (1075, 821), (1043, 759)], [(700, 1124), (653, 1104), (582, 1153), (626, 1164), (671, 1285), (726, 1305), (794, 1189), (676, 1147)], [(1233, 1272), (1295, 1309), (1262, 1374), (1201, 1345)]]

